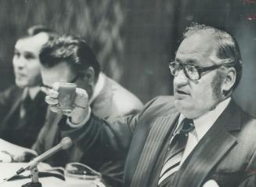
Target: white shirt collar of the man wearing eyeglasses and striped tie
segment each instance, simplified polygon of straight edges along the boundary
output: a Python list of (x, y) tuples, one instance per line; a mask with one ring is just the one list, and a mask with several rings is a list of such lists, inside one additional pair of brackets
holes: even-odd
[[(198, 140), (203, 138), (203, 136), (207, 133), (207, 131), (211, 128), (211, 126), (215, 123), (221, 113), (225, 110), (225, 108), (229, 105), (231, 98), (225, 99), (220, 102), (218, 106), (215, 107), (214, 110), (211, 110), (207, 113), (204, 113), (202, 116), (193, 120), (195, 125), (195, 130), (197, 131)], [(181, 113), (178, 118), (178, 126), (182, 123), (186, 117)], [(178, 127), (176, 131), (178, 130)]]

